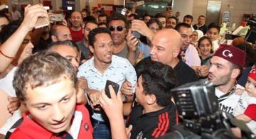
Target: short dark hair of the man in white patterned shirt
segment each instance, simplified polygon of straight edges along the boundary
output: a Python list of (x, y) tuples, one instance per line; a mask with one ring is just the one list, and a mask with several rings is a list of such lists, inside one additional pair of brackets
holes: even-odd
[(108, 28), (95, 28), (93, 30), (90, 30), (90, 33), (88, 35), (89, 45), (94, 47), (94, 43), (95, 43), (95, 40), (96, 40), (95, 36), (97, 34), (100, 34), (100, 33), (107, 33), (107, 34), (111, 35), (111, 32)]

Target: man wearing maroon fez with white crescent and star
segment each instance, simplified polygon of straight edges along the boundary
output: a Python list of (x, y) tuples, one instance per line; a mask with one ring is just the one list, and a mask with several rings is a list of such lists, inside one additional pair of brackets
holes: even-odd
[(242, 88), (236, 80), (245, 66), (246, 53), (231, 45), (222, 45), (210, 60), (208, 79), (215, 85), (220, 110), (233, 113), (240, 96), (235, 90)]

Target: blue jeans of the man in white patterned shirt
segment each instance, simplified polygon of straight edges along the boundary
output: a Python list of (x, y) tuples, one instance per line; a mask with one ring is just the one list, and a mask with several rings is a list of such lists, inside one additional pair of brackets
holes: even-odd
[(102, 121), (92, 120), (93, 138), (95, 139), (110, 139), (111, 131), (110, 124)]

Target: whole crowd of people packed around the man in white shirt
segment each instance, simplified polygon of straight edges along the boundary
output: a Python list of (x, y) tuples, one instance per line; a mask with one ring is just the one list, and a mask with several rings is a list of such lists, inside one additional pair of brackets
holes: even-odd
[[(256, 50), (244, 38), (221, 44), (218, 23), (179, 21), (171, 9), (139, 17), (103, 9), (50, 14), (28, 5), (0, 13), (0, 138), (159, 138), (182, 124), (171, 89), (208, 80), (220, 111), (256, 135)], [(52, 15), (52, 14), (51, 14)], [(118, 92), (106, 82), (118, 84)], [(241, 136), (238, 128), (230, 132)]]

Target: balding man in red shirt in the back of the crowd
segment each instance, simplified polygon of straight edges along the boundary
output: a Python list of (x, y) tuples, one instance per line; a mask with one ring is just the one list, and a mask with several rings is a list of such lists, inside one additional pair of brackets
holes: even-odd
[(79, 11), (73, 11), (71, 13), (71, 27), (70, 27), (70, 33), (72, 35), (73, 41), (78, 42), (82, 40), (83, 38), (83, 32), (82, 32), (82, 14)]

